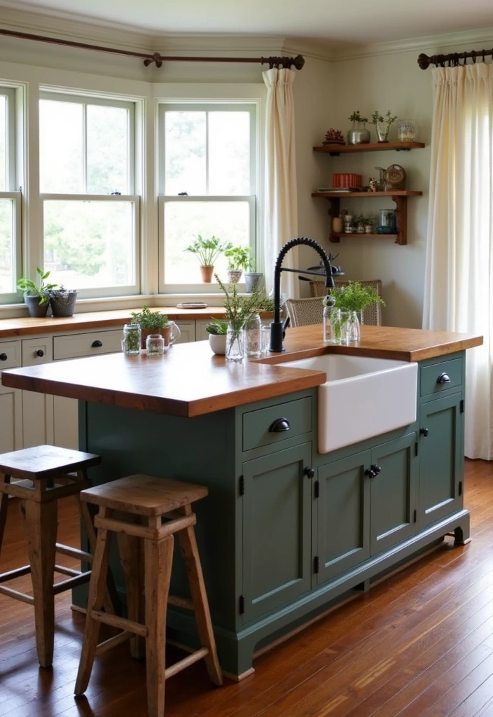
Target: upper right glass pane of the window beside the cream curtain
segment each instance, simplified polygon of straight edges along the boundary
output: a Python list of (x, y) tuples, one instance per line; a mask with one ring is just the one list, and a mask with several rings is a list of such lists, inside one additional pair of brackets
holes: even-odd
[(209, 194), (250, 194), (248, 112), (209, 112)]

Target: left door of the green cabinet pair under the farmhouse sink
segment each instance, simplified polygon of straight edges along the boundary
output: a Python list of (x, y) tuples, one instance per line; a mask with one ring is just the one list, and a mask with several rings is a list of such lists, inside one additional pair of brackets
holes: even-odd
[(319, 468), (317, 582), (350, 570), (370, 556), (370, 451)]

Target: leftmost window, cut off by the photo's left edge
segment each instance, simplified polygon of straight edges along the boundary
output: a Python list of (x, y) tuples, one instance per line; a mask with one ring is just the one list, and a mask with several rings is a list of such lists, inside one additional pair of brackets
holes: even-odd
[(21, 193), (16, 161), (16, 89), (0, 87), (0, 302), (19, 300)]

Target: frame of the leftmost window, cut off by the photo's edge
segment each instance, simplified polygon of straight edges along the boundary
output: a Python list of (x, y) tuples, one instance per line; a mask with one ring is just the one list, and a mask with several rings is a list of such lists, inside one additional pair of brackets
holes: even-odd
[[(0, 199), (12, 202), (12, 275), (14, 291), (0, 293), (0, 305), (19, 303), (19, 292), (15, 290), (16, 282), (22, 270), (22, 194), (21, 194), (21, 157), (17, 145), (17, 136), (21, 133), (18, 127), (19, 90), (17, 85), (2, 84), (0, 95), (6, 97), (6, 189), (0, 191)], [(19, 120), (20, 121), (20, 120)]]

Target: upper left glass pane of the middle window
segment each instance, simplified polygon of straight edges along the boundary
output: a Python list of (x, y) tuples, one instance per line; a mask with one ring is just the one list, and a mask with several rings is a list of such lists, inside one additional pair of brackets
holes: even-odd
[(39, 100), (39, 171), (42, 192), (84, 191), (82, 170), (83, 107)]

